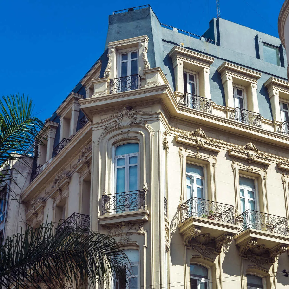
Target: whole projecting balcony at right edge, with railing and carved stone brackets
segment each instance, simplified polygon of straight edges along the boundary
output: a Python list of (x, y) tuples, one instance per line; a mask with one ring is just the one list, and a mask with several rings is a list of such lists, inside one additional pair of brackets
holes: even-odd
[(267, 257), (274, 262), (276, 255), (285, 253), (289, 244), (287, 218), (247, 210), (236, 221), (240, 225), (235, 236), (240, 255)]

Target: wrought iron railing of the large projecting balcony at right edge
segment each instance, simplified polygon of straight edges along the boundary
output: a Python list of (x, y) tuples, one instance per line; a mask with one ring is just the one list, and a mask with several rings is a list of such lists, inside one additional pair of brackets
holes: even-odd
[(238, 234), (251, 228), (288, 236), (287, 218), (284, 217), (247, 210), (240, 214), (236, 221), (240, 225)]

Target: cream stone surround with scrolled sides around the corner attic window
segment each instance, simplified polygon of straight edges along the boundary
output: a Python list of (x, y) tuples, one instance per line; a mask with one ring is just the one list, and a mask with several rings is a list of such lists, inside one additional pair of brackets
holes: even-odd
[(138, 68), (139, 74), (143, 75), (144, 69), (149, 69), (150, 65), (147, 60), (147, 45), (149, 38), (147, 35), (113, 41), (108, 43), (108, 64), (103, 76), (109, 78), (117, 77), (117, 52), (122, 49), (138, 49)]

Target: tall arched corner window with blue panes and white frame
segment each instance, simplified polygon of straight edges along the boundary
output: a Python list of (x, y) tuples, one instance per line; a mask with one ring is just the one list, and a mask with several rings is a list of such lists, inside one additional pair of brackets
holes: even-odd
[(122, 144), (115, 148), (115, 192), (138, 190), (138, 143)]

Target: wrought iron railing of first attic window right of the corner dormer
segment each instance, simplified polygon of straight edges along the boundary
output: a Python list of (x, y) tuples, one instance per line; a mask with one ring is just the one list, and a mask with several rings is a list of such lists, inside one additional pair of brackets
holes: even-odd
[(188, 108), (194, 108), (196, 110), (212, 113), (212, 101), (211, 99), (194, 95), (189, 92), (185, 92), (181, 98), (181, 105)]

